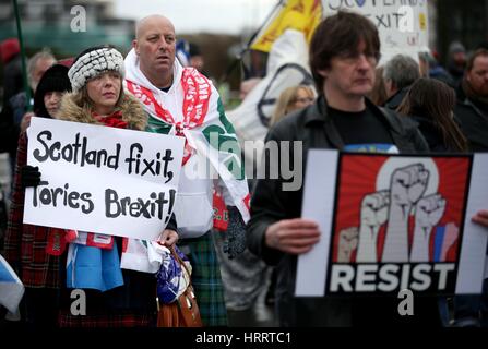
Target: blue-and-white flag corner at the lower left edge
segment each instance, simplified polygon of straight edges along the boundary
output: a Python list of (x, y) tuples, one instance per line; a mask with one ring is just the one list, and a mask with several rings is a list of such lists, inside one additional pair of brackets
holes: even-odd
[(16, 313), (24, 291), (21, 279), (0, 255), (0, 304), (5, 306), (10, 313)]

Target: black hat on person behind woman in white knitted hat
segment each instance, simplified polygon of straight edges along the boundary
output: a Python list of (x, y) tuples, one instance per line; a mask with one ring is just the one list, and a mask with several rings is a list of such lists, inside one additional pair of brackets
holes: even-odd
[(44, 104), (44, 96), (48, 92), (70, 92), (71, 83), (68, 79), (68, 67), (55, 64), (49, 68), (40, 77), (34, 94), (34, 112), (38, 117), (47, 117), (49, 113)]

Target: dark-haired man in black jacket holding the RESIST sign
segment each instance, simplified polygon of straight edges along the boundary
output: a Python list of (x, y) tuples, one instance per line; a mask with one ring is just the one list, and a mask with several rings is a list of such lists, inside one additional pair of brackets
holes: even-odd
[[(368, 19), (348, 12), (325, 19), (310, 45), (310, 65), (319, 91), (317, 103), (286, 117), (266, 136), (266, 145), (277, 144), (279, 152), (284, 152), (279, 146), (283, 141), (302, 142), (302, 147), (293, 151), (294, 146), (289, 146), (290, 153), (277, 158), (300, 164), (305, 169), (310, 148), (428, 151), (426, 141), (408, 119), (379, 109), (365, 98), (373, 86), (379, 58), (378, 31)], [(385, 144), (386, 147), (380, 146)], [(271, 164), (274, 158), (264, 154), (263, 164)], [(277, 164), (277, 168), (282, 165)], [(271, 166), (272, 173), (276, 168)], [(297, 256), (310, 251), (321, 234), (316, 221), (301, 218), (302, 188), (297, 185), (297, 178), (305, 176), (296, 168), (294, 172), (291, 179), (279, 173), (277, 179), (258, 181), (248, 224), (250, 251), (267, 264), (277, 265), (279, 325), (390, 324), (393, 317), (398, 317), (397, 300), (393, 298), (353, 301), (294, 297)]]

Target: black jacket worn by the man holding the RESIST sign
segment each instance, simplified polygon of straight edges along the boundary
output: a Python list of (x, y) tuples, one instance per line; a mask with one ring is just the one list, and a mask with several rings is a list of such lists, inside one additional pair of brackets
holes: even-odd
[[(426, 141), (412, 120), (401, 118), (394, 111), (380, 109), (369, 100), (366, 104), (369, 110), (385, 121), (393, 143), (402, 153), (428, 151)], [(290, 154), (291, 157), (302, 158), (303, 169), (307, 166), (309, 149), (344, 147), (332, 118), (328, 116), (328, 105), (323, 96), (308, 108), (278, 122), (270, 130), (266, 136), (266, 142), (269, 141), (303, 141), (302, 153)], [(269, 160), (264, 164), (271, 164)], [(303, 178), (305, 176), (306, 173)], [(251, 219), (247, 230), (249, 250), (267, 264), (278, 265), (276, 294), (279, 321), (286, 326), (350, 326), (350, 299), (294, 298), (297, 257), (265, 245), (264, 236), (269, 226), (282, 219), (301, 216), (302, 188), (298, 191), (283, 191), (284, 182), (283, 178), (258, 181), (251, 200)]]

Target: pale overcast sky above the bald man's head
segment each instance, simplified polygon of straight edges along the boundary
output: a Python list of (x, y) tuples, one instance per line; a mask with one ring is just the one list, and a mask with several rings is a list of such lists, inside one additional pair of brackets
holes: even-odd
[(207, 32), (240, 34), (259, 27), (278, 0), (117, 0), (116, 14), (140, 20), (166, 15), (181, 34)]

